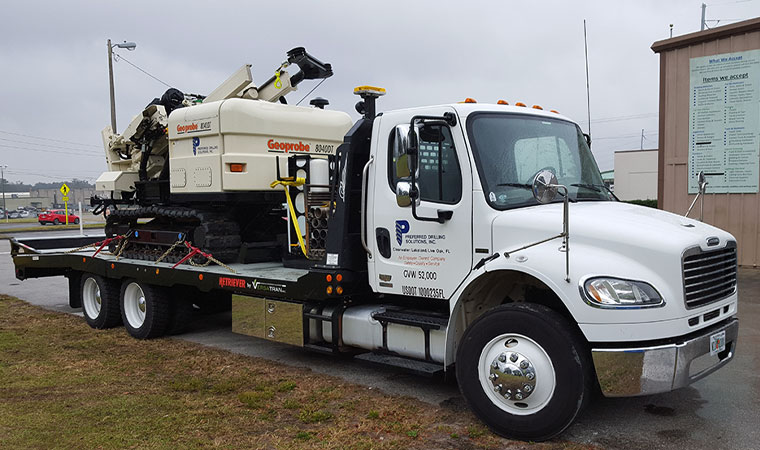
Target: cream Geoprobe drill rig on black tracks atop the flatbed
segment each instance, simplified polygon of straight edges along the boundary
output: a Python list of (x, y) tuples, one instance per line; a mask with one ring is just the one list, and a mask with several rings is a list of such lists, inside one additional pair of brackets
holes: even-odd
[[(109, 171), (96, 189), (111, 195), (91, 204), (107, 216), (112, 251), (178, 262), (190, 247), (247, 263), (279, 261), (287, 249), (292, 265), (324, 260), (335, 149), (351, 119), (320, 98), (288, 105), (300, 82), (332, 68), (302, 47), (287, 55), (261, 86), (245, 65), (206, 97), (169, 89), (122, 134), (103, 130)], [(290, 65), (300, 71), (289, 75)]]

